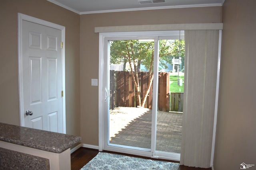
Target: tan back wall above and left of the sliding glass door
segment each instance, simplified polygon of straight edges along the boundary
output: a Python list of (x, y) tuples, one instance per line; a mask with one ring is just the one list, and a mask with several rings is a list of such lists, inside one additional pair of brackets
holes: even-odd
[[(86, 14), (80, 17), (80, 106), (82, 143), (98, 146), (98, 34), (94, 27), (170, 23), (222, 22), (222, 7), (179, 8)], [(100, 94), (102, 95), (102, 94)]]

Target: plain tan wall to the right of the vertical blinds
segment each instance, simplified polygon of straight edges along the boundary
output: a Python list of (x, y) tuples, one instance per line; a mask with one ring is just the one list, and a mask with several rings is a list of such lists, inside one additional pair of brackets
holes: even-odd
[(215, 170), (256, 169), (256, 1), (225, 0)]

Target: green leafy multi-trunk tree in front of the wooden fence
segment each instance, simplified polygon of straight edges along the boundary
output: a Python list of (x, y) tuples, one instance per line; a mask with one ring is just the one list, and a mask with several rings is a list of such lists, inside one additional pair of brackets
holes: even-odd
[[(162, 68), (167, 68), (167, 63), (172, 62), (172, 56), (180, 53), (180, 48), (177, 46), (176, 40), (160, 40), (159, 41), (159, 65)], [(178, 50), (178, 51), (177, 51)], [(183, 50), (184, 51), (184, 50)], [(153, 66), (154, 66), (154, 41), (153, 40), (116, 40), (110, 41), (110, 63), (121, 64), (124, 63), (124, 70), (126, 63), (129, 63), (132, 80), (136, 88), (136, 96), (138, 98), (138, 105), (144, 107), (146, 98), (150, 91), (153, 82)], [(140, 83), (138, 72), (140, 71), (140, 64), (143, 64), (149, 72), (148, 86), (144, 96), (140, 94)], [(133, 69), (134, 68), (134, 69)]]

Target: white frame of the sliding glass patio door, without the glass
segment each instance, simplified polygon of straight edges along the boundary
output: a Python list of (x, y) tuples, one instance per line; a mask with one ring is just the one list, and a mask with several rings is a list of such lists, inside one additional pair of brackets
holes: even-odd
[[(177, 34), (177, 35), (176, 35)], [(127, 147), (121, 145), (108, 145), (108, 110), (109, 110), (109, 87), (108, 87), (108, 68), (109, 65), (109, 40), (123, 39), (154, 39), (154, 72), (158, 72), (158, 40), (161, 38), (177, 39), (180, 37), (180, 31), (143, 31), (143, 32), (118, 32), (118, 33), (100, 33), (99, 34), (99, 151), (110, 150), (114, 152), (123, 152), (126, 154), (136, 154), (152, 158), (163, 158), (169, 160), (180, 160), (180, 154), (161, 152), (156, 150), (156, 116), (157, 106), (152, 105), (152, 143), (151, 149), (142, 149), (136, 147)], [(153, 104), (157, 104), (158, 78), (153, 81)]]

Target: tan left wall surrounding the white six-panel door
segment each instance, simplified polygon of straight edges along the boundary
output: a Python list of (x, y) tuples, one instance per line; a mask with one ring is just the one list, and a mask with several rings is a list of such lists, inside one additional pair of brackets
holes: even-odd
[(20, 125), (18, 13), (66, 27), (66, 133), (80, 135), (80, 16), (46, 0), (0, 0), (0, 122)]

